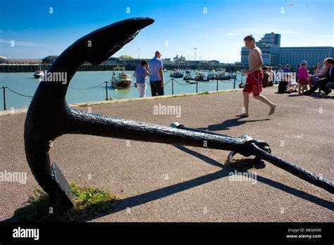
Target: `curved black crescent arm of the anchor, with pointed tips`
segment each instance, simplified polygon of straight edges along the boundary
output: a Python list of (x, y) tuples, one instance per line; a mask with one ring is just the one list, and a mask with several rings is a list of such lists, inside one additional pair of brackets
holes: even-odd
[(130, 42), (151, 18), (122, 20), (87, 34), (68, 47), (51, 65), (48, 73), (63, 73), (67, 81), (42, 81), (32, 98), (25, 119), (25, 155), (32, 174), (52, 199), (75, 206), (74, 196), (65, 177), (49, 158), (50, 141), (68, 131), (66, 92), (70, 80), (85, 62), (97, 65)]

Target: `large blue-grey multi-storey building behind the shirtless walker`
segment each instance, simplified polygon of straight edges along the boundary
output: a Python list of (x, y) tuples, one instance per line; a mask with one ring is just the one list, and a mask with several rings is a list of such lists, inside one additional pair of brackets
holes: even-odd
[[(305, 60), (309, 66), (318, 62), (322, 63), (324, 58), (334, 57), (332, 46), (304, 46), (304, 47), (281, 47), (280, 34), (266, 33), (256, 46), (262, 51), (264, 65), (292, 65), (297, 66), (300, 61)], [(249, 50), (241, 48), (241, 63), (248, 65)]]

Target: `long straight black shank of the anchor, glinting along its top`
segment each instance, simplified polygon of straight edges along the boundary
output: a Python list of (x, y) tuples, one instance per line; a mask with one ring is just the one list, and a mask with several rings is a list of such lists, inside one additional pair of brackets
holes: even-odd
[(164, 144), (182, 144), (184, 146), (197, 146), (225, 151), (242, 151), (247, 139), (225, 137), (192, 132), (172, 127), (137, 122), (124, 118), (113, 118), (106, 115), (86, 113), (68, 108), (70, 115), (66, 123), (66, 134), (90, 134), (101, 137), (114, 137), (118, 139), (131, 139), (143, 142), (158, 142)]

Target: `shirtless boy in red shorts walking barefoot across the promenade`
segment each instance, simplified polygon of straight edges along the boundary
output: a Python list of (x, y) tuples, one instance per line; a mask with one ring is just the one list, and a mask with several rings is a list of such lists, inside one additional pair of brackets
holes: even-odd
[(249, 49), (248, 63), (249, 70), (243, 72), (247, 75), (245, 88), (242, 92), (244, 96), (245, 112), (237, 114), (235, 116), (240, 118), (248, 118), (248, 105), (249, 105), (249, 94), (253, 93), (255, 99), (266, 103), (270, 107), (269, 115), (275, 112), (276, 104), (271, 103), (265, 96), (261, 95), (262, 91), (262, 80), (264, 79), (264, 73), (262, 73), (261, 67), (264, 65), (262, 60), (262, 52), (255, 45), (255, 39), (252, 35), (248, 35), (244, 38), (245, 46)]

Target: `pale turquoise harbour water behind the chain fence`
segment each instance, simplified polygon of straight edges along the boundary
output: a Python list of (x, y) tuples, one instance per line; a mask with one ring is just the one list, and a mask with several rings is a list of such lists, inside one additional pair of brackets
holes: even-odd
[[(133, 71), (127, 71), (132, 77)], [(104, 81), (111, 80), (112, 71), (85, 71), (77, 72), (70, 82), (70, 87), (66, 94), (68, 103), (80, 103), (87, 101), (104, 101), (106, 99), (106, 84)], [(170, 73), (163, 73), (165, 83), (171, 80)], [(175, 78), (177, 82), (173, 83), (174, 94), (189, 94), (196, 92), (196, 84), (189, 84), (183, 78)], [(241, 80), (241, 75), (237, 74), (237, 80)], [(245, 77), (243, 77), (245, 80)], [(199, 82), (198, 92), (216, 91), (216, 80), (210, 82)], [(101, 84), (98, 87), (97, 85)], [(132, 77), (132, 85), (135, 84), (135, 78)], [(236, 82), (238, 88), (239, 82)], [(39, 85), (39, 80), (33, 77), (33, 73), (0, 73), (0, 87), (6, 86), (9, 89), (23, 95), (33, 96)], [(95, 87), (93, 89), (85, 89)], [(218, 81), (218, 90), (233, 89), (233, 80)], [(165, 85), (165, 95), (172, 94), (172, 83)], [(130, 99), (139, 97), (137, 88), (113, 89), (108, 86), (108, 95), (113, 99)], [(151, 96), (149, 84), (147, 85), (147, 96)], [(6, 108), (27, 108), (32, 98), (20, 96), (6, 89)], [(0, 91), (0, 111), (4, 110), (4, 96), (2, 89)]]

